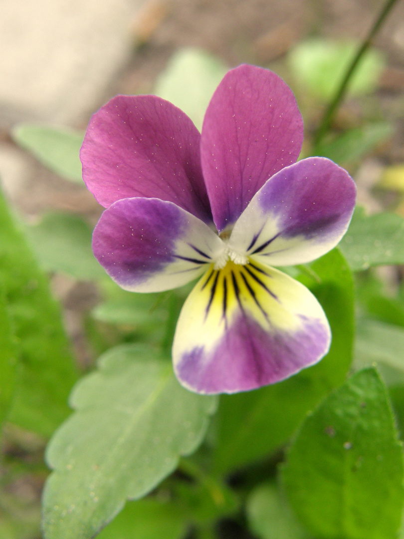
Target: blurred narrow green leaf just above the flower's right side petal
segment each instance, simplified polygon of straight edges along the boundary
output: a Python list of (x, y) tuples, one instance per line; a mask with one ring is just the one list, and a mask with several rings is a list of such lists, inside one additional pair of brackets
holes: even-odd
[(387, 122), (349, 129), (332, 141), (317, 146), (313, 155), (328, 157), (336, 163), (348, 163), (362, 157), (379, 142), (388, 139), (392, 133), (392, 126)]

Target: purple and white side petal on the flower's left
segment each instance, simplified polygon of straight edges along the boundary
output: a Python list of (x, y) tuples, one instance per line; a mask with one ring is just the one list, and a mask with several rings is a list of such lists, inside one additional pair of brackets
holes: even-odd
[(103, 212), (93, 251), (122, 288), (160, 292), (199, 277), (222, 250), (221, 239), (172, 202), (124, 198)]

